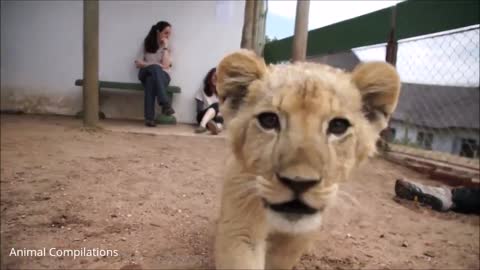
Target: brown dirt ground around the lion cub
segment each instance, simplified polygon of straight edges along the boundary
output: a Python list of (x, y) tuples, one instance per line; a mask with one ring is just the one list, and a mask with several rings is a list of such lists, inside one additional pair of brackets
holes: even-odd
[[(213, 268), (224, 148), (222, 138), (90, 132), (71, 118), (2, 115), (2, 269)], [(373, 159), (343, 184), (296, 269), (478, 269), (480, 217), (396, 201), (400, 177), (434, 183)], [(15, 257), (12, 248), (118, 256)]]

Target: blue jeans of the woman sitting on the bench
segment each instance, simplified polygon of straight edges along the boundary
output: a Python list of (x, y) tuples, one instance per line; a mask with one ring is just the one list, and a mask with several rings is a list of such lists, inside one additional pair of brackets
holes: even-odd
[(171, 106), (171, 101), (167, 95), (170, 75), (159, 65), (150, 65), (140, 69), (138, 79), (142, 82), (145, 89), (145, 120), (155, 120), (155, 98), (157, 98), (158, 105), (162, 106), (162, 108)]

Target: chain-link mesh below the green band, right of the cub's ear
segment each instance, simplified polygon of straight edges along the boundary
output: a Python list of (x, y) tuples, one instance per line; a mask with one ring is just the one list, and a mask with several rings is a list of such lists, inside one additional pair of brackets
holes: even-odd
[(394, 151), (478, 167), (479, 37), (475, 26), (398, 42)]

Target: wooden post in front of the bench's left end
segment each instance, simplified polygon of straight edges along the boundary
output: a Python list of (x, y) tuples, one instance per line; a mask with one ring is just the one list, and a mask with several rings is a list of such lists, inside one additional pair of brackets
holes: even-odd
[(83, 1), (83, 123), (98, 124), (98, 0)]

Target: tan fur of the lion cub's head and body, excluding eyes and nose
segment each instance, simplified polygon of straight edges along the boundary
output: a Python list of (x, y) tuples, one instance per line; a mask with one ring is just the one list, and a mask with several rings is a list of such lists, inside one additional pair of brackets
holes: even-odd
[[(386, 63), (367, 63), (351, 74), (314, 63), (267, 67), (240, 50), (218, 66), (221, 111), (230, 151), (221, 196), (215, 260), (218, 269), (291, 269), (314, 241), (322, 212), (338, 183), (375, 153), (375, 142), (395, 109), (400, 80)], [(274, 112), (281, 128), (266, 130), (257, 115)], [(330, 120), (348, 119), (341, 136)], [(319, 211), (274, 212), (264, 205), (293, 199), (277, 175), (321, 179), (301, 195)]]

